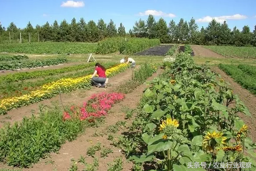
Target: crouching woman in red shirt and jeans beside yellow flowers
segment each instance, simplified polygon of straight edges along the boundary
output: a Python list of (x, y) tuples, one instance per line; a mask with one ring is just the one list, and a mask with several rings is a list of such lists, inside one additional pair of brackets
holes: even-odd
[[(98, 74), (98, 77), (95, 77), (96, 74)], [(95, 71), (91, 76), (91, 84), (93, 86), (106, 88), (106, 83), (106, 69), (104, 68), (104, 66), (96, 63)]]

